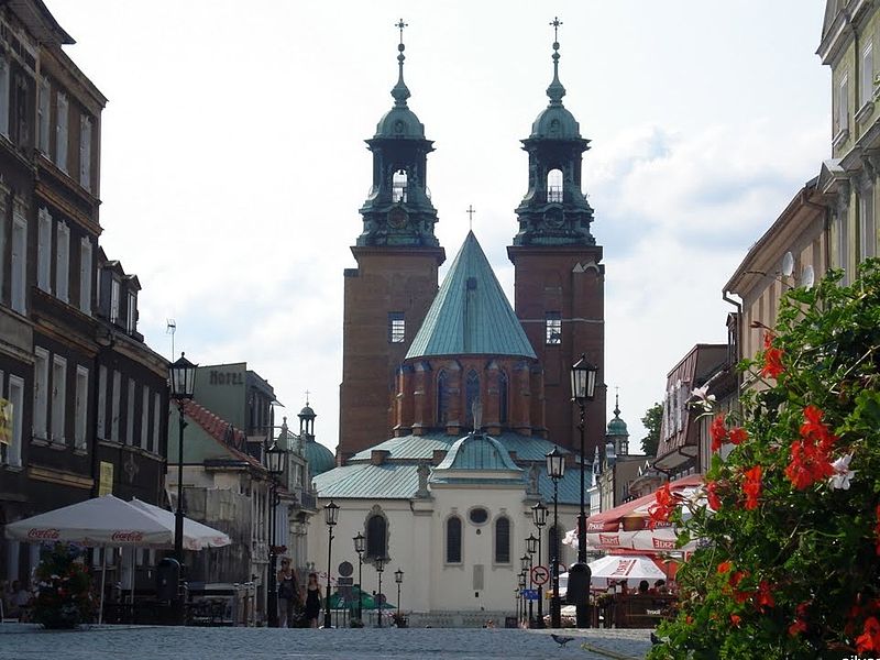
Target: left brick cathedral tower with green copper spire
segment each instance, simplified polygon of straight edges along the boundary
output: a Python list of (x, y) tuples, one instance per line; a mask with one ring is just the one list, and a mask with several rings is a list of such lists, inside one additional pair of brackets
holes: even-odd
[(404, 28), (397, 24), (394, 106), (366, 141), (373, 183), (361, 208), (363, 232), (344, 272), (342, 384), (338, 454), (345, 459), (392, 436), (395, 374), (437, 294), (444, 253), (433, 233), (437, 210), (427, 186), (433, 143), (407, 106)]

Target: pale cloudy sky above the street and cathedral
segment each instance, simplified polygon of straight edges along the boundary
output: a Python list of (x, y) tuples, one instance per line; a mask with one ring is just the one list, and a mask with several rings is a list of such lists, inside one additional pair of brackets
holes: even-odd
[(726, 341), (724, 284), (831, 151), (821, 0), (45, 1), (109, 98), (101, 244), (139, 276), (146, 341), (170, 358), (174, 319), (176, 353), (248, 362), (284, 404), (278, 424), (298, 428), (308, 391), (331, 449), (363, 141), (393, 103), (402, 16), (446, 266), (473, 205), (512, 299), (519, 141), (548, 102), (562, 21), (604, 246), (608, 418), (617, 388), (630, 447), (668, 372)]

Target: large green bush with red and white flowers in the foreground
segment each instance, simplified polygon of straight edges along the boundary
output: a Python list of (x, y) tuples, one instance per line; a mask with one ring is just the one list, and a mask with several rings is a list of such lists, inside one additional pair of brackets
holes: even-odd
[(839, 279), (785, 295), (741, 413), (707, 413), (704, 497), (654, 507), (702, 541), (652, 660), (880, 656), (880, 262)]

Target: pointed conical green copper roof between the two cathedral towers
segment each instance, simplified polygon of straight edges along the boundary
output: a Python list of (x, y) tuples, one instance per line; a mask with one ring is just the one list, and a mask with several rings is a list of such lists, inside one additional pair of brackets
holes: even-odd
[(469, 232), (406, 358), (474, 354), (535, 359), (483, 249)]

